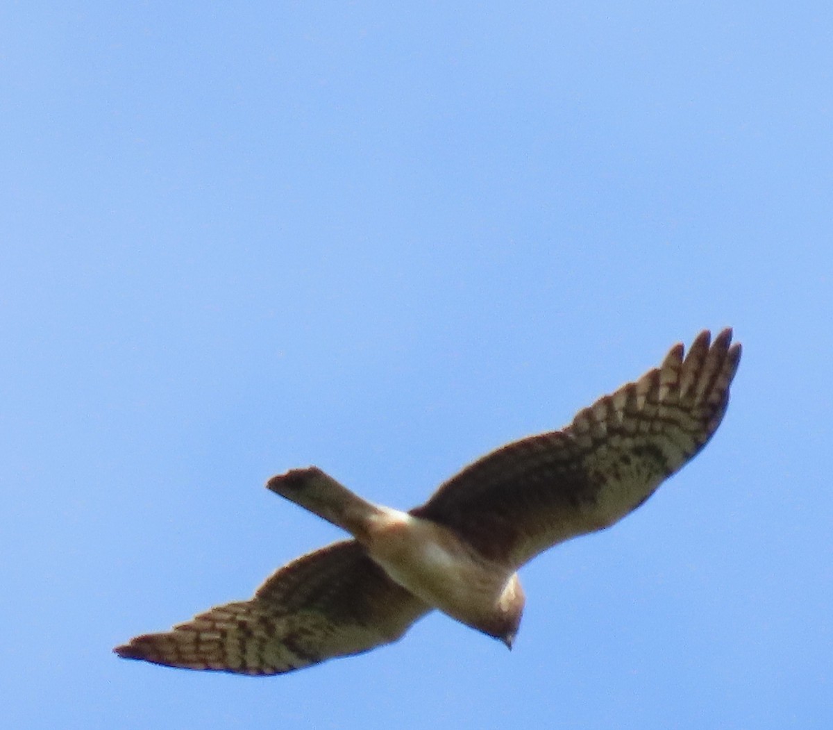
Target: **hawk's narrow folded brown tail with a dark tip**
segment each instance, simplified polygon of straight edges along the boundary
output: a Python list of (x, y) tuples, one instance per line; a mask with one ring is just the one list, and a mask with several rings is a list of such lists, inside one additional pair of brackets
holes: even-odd
[(266, 486), (327, 522), (342, 527), (362, 542), (372, 517), (382, 512), (317, 467), (278, 474)]

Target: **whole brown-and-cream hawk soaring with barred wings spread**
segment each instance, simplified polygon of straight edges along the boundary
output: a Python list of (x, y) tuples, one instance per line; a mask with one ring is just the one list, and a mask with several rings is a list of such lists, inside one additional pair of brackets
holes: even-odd
[(367, 502), (318, 468), (267, 488), (352, 535), (279, 568), (249, 601), (200, 613), (114, 651), (169, 667), (290, 672), (396, 641), (433, 609), (511, 648), (517, 570), (610, 527), (691, 460), (721, 423), (741, 359), (731, 329), (675, 345), (659, 368), (600, 398), (561, 431), (509, 443), (421, 507)]

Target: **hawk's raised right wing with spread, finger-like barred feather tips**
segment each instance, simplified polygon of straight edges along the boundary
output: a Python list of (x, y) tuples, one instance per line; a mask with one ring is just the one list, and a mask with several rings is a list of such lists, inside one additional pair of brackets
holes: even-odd
[(488, 454), (412, 510), (486, 557), (521, 566), (557, 542), (608, 527), (651, 496), (721, 423), (741, 358), (731, 329), (700, 333), (660, 368), (576, 415), (562, 431)]

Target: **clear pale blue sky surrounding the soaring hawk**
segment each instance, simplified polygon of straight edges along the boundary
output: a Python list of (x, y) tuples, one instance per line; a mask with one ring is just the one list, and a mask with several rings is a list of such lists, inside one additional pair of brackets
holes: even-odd
[[(6, 2), (7, 727), (833, 721), (829, 2)], [(111, 648), (732, 325), (716, 438), (521, 573), (282, 677)]]

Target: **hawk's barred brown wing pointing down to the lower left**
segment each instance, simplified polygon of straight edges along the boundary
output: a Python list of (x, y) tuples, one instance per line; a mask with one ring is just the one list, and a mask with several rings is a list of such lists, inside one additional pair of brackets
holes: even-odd
[(114, 651), (169, 667), (279, 674), (396, 641), (429, 610), (347, 540), (280, 568), (250, 601), (214, 607)]

